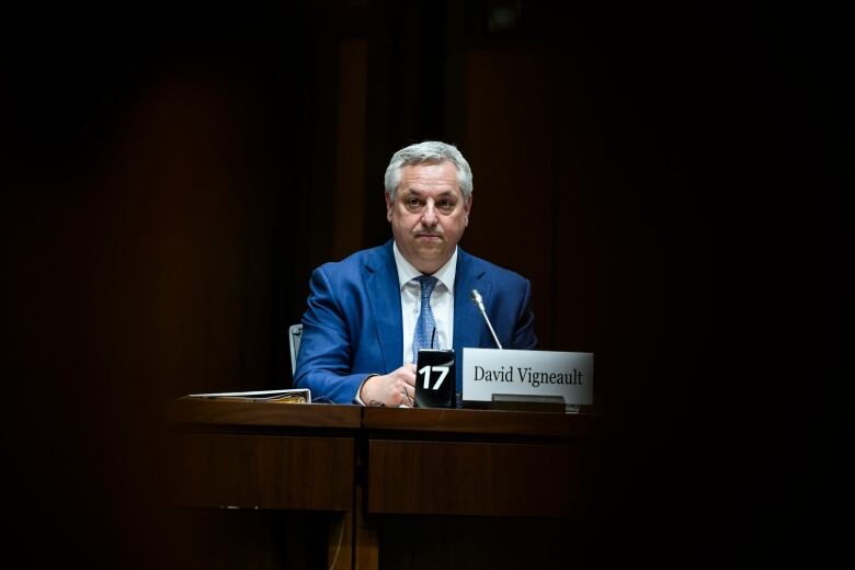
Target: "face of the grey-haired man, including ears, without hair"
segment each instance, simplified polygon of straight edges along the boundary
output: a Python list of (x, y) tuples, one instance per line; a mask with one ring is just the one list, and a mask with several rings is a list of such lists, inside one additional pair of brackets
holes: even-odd
[(407, 261), (431, 274), (452, 258), (471, 206), (472, 196), (464, 200), (454, 164), (415, 164), (401, 169), (395, 200), (386, 195), (386, 219)]

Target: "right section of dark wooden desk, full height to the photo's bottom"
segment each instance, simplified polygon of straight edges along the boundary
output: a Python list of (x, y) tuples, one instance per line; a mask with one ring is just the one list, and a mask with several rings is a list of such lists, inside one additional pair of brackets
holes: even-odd
[(364, 566), (381, 556), (389, 568), (527, 568), (532, 550), (543, 567), (565, 566), (565, 525), (583, 508), (594, 421), (366, 409), (365, 504), (356, 526), (361, 544), (375, 540), (378, 554), (367, 552)]

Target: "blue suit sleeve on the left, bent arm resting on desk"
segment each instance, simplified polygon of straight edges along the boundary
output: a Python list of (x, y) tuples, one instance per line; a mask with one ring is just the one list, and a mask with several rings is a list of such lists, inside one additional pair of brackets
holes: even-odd
[(316, 401), (353, 403), (367, 375), (351, 374), (352, 345), (346, 315), (323, 267), (318, 267), (309, 280), (294, 386), (308, 388)]

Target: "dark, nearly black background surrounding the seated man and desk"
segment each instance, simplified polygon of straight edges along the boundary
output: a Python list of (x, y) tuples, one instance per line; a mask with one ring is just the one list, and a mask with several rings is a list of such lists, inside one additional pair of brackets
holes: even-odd
[(577, 551), (816, 562), (851, 536), (842, 12), (4, 12), (3, 512), (34, 565), (162, 563), (164, 402), (288, 386), (311, 269), (389, 238), (385, 167), (430, 138), (475, 172), (461, 246), (532, 280), (542, 349), (596, 355)]

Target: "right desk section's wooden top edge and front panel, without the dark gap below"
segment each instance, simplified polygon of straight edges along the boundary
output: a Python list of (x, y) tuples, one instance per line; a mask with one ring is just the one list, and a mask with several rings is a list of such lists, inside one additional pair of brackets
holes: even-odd
[(367, 512), (565, 516), (590, 431), (590, 417), (366, 409)]

